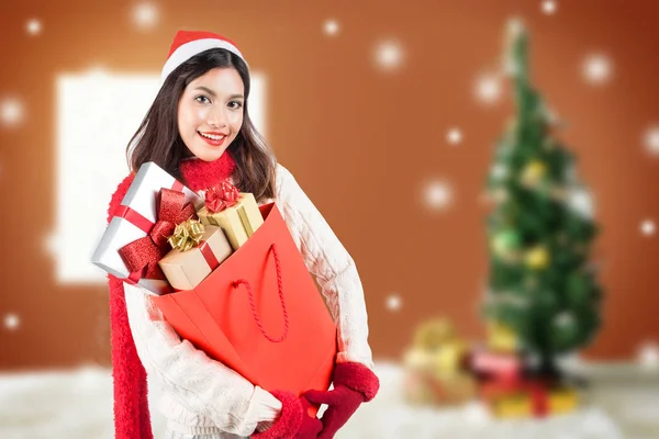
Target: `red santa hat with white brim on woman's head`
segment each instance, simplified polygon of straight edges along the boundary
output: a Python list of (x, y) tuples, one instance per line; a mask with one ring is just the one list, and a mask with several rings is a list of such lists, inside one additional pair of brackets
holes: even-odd
[(238, 50), (238, 47), (231, 40), (214, 34), (212, 32), (201, 31), (178, 31), (169, 47), (169, 54), (167, 55), (167, 61), (163, 67), (160, 74), (160, 81), (165, 82), (165, 79), (171, 74), (178, 66), (192, 58), (194, 55), (199, 55), (210, 48), (224, 48), (228, 52), (237, 55), (247, 64), (245, 57)]

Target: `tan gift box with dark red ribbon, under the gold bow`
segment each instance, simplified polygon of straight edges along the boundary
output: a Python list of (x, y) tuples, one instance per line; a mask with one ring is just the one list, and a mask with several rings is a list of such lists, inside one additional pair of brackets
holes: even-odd
[[(201, 240), (205, 241), (219, 263), (222, 263), (233, 252), (220, 227), (205, 226)], [(192, 290), (216, 268), (209, 266), (201, 246), (193, 247), (188, 251), (172, 249), (158, 261), (158, 266), (167, 281), (176, 290)]]

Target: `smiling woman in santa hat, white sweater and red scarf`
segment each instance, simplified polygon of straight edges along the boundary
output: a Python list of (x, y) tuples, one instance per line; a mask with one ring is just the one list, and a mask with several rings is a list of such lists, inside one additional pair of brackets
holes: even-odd
[[(252, 124), (249, 71), (233, 42), (179, 31), (161, 79), (126, 148), (132, 172), (112, 196), (109, 221), (147, 161), (200, 193), (228, 178), (259, 204), (276, 201), (338, 328), (334, 390), (298, 398), (253, 385), (182, 340), (147, 290), (110, 275), (115, 438), (153, 438), (146, 371), (164, 387), (159, 409), (168, 419), (167, 438), (332, 438), (379, 389), (355, 263)], [(328, 405), (322, 424), (306, 415), (305, 399)]]

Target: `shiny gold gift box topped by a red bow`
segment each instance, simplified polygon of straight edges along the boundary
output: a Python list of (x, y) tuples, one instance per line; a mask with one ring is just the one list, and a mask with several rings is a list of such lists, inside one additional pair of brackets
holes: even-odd
[(237, 204), (222, 212), (211, 213), (204, 206), (197, 212), (197, 216), (203, 225), (221, 227), (234, 250), (245, 244), (256, 229), (264, 224), (264, 217), (254, 194), (246, 192), (241, 192)]

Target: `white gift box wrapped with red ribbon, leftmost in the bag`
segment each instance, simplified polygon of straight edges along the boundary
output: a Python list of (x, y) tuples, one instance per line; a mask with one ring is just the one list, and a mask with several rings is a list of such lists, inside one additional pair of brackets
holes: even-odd
[[(176, 190), (182, 188), (181, 192), (186, 195), (186, 204), (192, 203), (196, 211), (203, 206), (203, 199), (201, 196), (183, 187), (153, 161), (142, 165), (121, 205), (127, 206), (142, 215), (150, 222), (150, 226), (153, 227), (157, 221), (156, 196), (163, 188)], [(108, 225), (101, 241), (91, 257), (91, 261), (110, 274), (125, 280), (131, 272), (119, 255), (119, 249), (147, 235), (147, 232), (131, 223), (125, 217), (115, 215)], [(171, 291), (166, 280), (141, 279), (137, 283), (156, 294)]]

